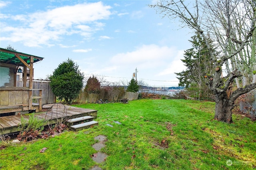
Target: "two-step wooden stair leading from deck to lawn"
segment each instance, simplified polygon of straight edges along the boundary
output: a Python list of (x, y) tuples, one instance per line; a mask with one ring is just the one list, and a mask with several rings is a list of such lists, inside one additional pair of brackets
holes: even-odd
[(74, 119), (68, 119), (66, 123), (74, 131), (79, 131), (85, 128), (90, 128), (94, 125), (98, 125), (98, 122), (93, 121), (94, 117), (92, 116), (83, 116), (77, 117)]

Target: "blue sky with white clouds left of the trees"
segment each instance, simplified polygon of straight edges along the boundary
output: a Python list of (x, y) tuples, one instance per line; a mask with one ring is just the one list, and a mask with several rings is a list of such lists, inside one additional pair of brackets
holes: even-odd
[(44, 57), (34, 79), (45, 79), (68, 58), (85, 77), (110, 82), (137, 78), (150, 86), (177, 86), (174, 72), (192, 34), (162, 18), (146, 0), (0, 1), (0, 47)]

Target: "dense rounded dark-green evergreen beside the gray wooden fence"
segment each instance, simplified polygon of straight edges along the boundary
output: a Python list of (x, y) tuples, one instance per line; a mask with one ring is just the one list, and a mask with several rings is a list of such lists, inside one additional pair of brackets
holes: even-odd
[(74, 61), (68, 59), (58, 65), (49, 79), (54, 95), (71, 103), (83, 87), (84, 73), (80, 72)]

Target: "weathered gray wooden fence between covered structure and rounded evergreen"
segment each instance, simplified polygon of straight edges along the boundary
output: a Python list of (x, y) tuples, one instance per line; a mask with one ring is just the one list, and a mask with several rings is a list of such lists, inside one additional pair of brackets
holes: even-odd
[[(16, 82), (17, 87), (23, 87), (23, 81)], [(29, 82), (26, 82), (26, 86), (29, 86)], [(42, 89), (42, 104), (56, 103), (56, 97), (52, 93), (49, 81), (33, 81), (33, 89)], [(39, 96), (39, 90), (33, 90), (32, 96)], [(35, 101), (34, 101), (35, 100)], [(38, 99), (33, 99), (34, 103), (38, 103)]]

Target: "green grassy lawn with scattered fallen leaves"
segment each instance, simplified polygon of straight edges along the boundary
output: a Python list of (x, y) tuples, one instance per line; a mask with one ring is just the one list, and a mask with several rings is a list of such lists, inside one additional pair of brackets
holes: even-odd
[[(233, 115), (232, 124), (213, 120), (214, 103), (188, 100), (136, 100), (128, 104), (74, 105), (98, 110), (99, 125), (48, 139), (9, 144), (0, 150), (0, 168), (106, 170), (256, 168), (256, 122)], [(118, 125), (113, 121), (119, 121)], [(113, 127), (106, 126), (113, 125)], [(107, 137), (97, 164), (95, 136)], [(1, 145), (3, 143), (0, 143)], [(48, 148), (44, 153), (40, 149)], [(230, 165), (230, 161), (232, 165)], [(228, 161), (228, 164), (227, 164)]]

